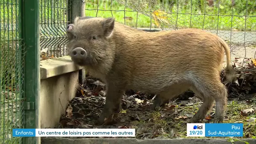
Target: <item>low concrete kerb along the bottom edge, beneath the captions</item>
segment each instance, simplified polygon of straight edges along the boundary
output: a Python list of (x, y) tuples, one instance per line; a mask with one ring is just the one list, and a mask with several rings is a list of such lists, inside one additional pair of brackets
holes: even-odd
[[(239, 139), (233, 144), (256, 144), (256, 139)], [(41, 138), (41, 144), (232, 144), (228, 139), (118, 139), (118, 138), (82, 138), (67, 139), (61, 137)]]

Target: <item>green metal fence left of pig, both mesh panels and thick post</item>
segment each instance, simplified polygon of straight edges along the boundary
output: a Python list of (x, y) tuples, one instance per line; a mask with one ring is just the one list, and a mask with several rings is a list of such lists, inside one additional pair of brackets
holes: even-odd
[[(35, 104), (39, 81), (39, 65), (37, 66), (35, 54), (37, 50), (34, 49), (37, 48), (35, 36), (38, 34), (36, 17), (40, 19), (41, 60), (65, 56), (65, 27), (69, 23), (71, 1), (73, 0), (39, 0), (37, 13), (37, 1), (0, 0), (1, 144), (22, 143), (22, 137), (12, 136), (12, 129), (31, 128), (36, 123), (35, 117), (32, 117), (35, 112), (29, 112), (33, 111), (30, 106)], [(26, 48), (26, 45), (29, 47)]]

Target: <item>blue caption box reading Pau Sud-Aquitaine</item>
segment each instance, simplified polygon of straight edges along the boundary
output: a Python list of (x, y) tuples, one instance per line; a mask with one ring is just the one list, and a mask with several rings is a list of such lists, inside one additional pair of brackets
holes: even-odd
[(205, 123), (205, 136), (243, 136), (243, 123)]

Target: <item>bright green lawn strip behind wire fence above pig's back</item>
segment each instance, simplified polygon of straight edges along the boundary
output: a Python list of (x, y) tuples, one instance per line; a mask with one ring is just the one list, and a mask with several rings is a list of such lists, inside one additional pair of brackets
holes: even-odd
[[(121, 0), (120, 0), (121, 1)], [(194, 1), (194, 0), (193, 0)], [(153, 19), (150, 19), (150, 11), (149, 8), (144, 8), (143, 5), (141, 7), (137, 7), (137, 10), (139, 12), (144, 13), (149, 16), (145, 16), (144, 14), (137, 13), (136, 11), (133, 11), (131, 8), (136, 8), (134, 5), (130, 5), (131, 8), (127, 8), (124, 5), (121, 5), (117, 3), (116, 1), (112, 2), (112, 8), (111, 8), (111, 1), (105, 0), (101, 1), (99, 0), (99, 5), (96, 3), (97, 1), (89, 0), (85, 3), (85, 16), (99, 16), (99, 17), (115, 17), (116, 21), (127, 24), (131, 27), (156, 27), (155, 21)], [(209, 8), (208, 5), (205, 6), (201, 10), (200, 14), (200, 8), (196, 7), (197, 5), (193, 5), (192, 9), (192, 15), (191, 5), (185, 6), (179, 6), (179, 14), (177, 18), (177, 7), (176, 5), (173, 6), (172, 10), (168, 10), (167, 8), (162, 7), (155, 7), (152, 11), (161, 9), (162, 11), (169, 11), (167, 17), (170, 24), (165, 24), (165, 26), (173, 26), (176, 25), (180, 28), (199, 28), (199, 29), (219, 29), (219, 30), (241, 30), (241, 31), (255, 31), (256, 30), (256, 11), (252, 10), (250, 12), (246, 11), (238, 11), (239, 8), (233, 9), (233, 15), (232, 15), (232, 8), (227, 8), (224, 6), (220, 6), (219, 9), (219, 15), (218, 16), (218, 8)], [(97, 9), (99, 11), (97, 11)], [(113, 11), (111, 11), (113, 10)], [(124, 11), (125, 10), (125, 11)], [(171, 11), (173, 13), (171, 13)], [(203, 15), (205, 11), (206, 15)], [(203, 13), (202, 13), (203, 12)], [(247, 14), (250, 17), (246, 18), (245, 22), (245, 15)], [(125, 17), (130, 17), (130, 19), (124, 19)], [(152, 20), (152, 24), (150, 21)], [(191, 24), (190, 24), (191, 22)], [(245, 27), (246, 23), (246, 27)], [(160, 28), (160, 27), (159, 27)]]

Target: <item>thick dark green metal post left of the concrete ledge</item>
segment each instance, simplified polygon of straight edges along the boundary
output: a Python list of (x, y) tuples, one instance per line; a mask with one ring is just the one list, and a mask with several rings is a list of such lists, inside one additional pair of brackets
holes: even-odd
[[(24, 47), (24, 128), (39, 128), (39, 0), (19, 0), (19, 5), (19, 30)], [(40, 143), (40, 138), (24, 137), (23, 142), (36, 144)]]

